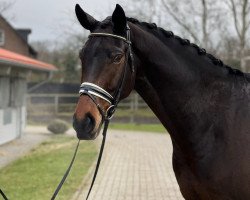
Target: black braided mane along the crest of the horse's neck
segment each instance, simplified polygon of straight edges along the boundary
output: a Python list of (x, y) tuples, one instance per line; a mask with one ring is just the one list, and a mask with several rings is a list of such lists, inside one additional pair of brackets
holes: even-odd
[[(178, 40), (180, 42), (180, 44), (183, 46), (191, 46), (191, 47), (195, 48), (197, 50), (198, 55), (208, 57), (213, 62), (214, 65), (226, 68), (230, 74), (244, 76), (244, 73), (241, 70), (232, 68), (228, 65), (225, 65), (223, 63), (223, 61), (216, 58), (212, 54), (207, 53), (204, 48), (201, 48), (198, 45), (191, 43), (188, 39), (183, 39), (180, 36), (175, 35), (172, 31), (166, 31), (165, 29), (163, 29), (161, 27), (157, 27), (157, 25), (155, 23), (140, 22), (139, 20), (137, 20), (135, 18), (127, 18), (127, 20), (129, 22), (136, 24), (136, 25), (139, 25), (141, 27), (146, 27), (147, 29), (149, 29), (149, 31), (150, 30), (159, 31), (167, 38), (173, 38), (173, 39)], [(154, 34), (154, 33), (152, 33), (152, 34)]]

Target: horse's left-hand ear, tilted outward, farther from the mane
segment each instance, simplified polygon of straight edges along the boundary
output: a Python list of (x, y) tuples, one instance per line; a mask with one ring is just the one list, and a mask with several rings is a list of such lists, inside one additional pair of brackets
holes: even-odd
[(75, 13), (77, 16), (78, 21), (80, 24), (87, 30), (90, 30), (91, 32), (95, 29), (98, 21), (95, 20), (92, 16), (85, 13), (82, 8), (79, 6), (79, 4), (76, 4), (75, 6)]

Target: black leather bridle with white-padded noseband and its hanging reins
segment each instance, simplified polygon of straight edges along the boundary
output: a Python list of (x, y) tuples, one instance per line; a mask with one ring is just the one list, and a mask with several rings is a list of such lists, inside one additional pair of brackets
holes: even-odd
[[(128, 66), (129, 58), (131, 59), (131, 71), (132, 71), (132, 73), (134, 73), (134, 71), (135, 71), (134, 70), (134, 65), (133, 65), (132, 49), (131, 49), (130, 28), (129, 28), (128, 24), (127, 24), (126, 32), (127, 32), (127, 37), (126, 38), (122, 37), (122, 36), (119, 36), (119, 35), (110, 34), (110, 33), (91, 33), (89, 35), (89, 37), (113, 37), (113, 38), (116, 38), (116, 39), (120, 39), (120, 40), (122, 40), (122, 41), (124, 41), (124, 42), (126, 42), (128, 44), (128, 51), (127, 51), (128, 53), (126, 53), (126, 64), (124, 66), (122, 77), (120, 79), (120, 83), (119, 83), (119, 85), (117, 87), (117, 91), (115, 92), (114, 97), (111, 94), (109, 94), (106, 90), (104, 90), (103, 88), (101, 88), (100, 86), (98, 86), (98, 85), (96, 85), (94, 83), (83, 82), (81, 84), (81, 86), (80, 86), (80, 90), (79, 90), (80, 96), (81, 95), (87, 95), (87, 96), (89, 96), (91, 98), (91, 100), (95, 103), (96, 107), (98, 108), (98, 110), (99, 110), (99, 112), (100, 112), (100, 114), (102, 116), (102, 122), (100, 123), (100, 126), (101, 126), (101, 124), (104, 123), (104, 128), (103, 128), (103, 132), (102, 132), (102, 135), (103, 135), (102, 144), (101, 144), (101, 147), (100, 147), (95, 172), (94, 172), (94, 175), (93, 175), (93, 178), (92, 178), (90, 188), (88, 190), (86, 200), (89, 198), (89, 195), (90, 195), (90, 193), (92, 191), (92, 188), (93, 188), (93, 185), (95, 183), (95, 179), (96, 179), (96, 176), (97, 176), (97, 173), (98, 173), (98, 170), (99, 170), (99, 166), (100, 166), (100, 163), (101, 163), (102, 154), (103, 154), (103, 150), (104, 150), (104, 146), (105, 146), (105, 141), (106, 141), (106, 135), (107, 135), (109, 122), (110, 122), (110, 119), (113, 117), (113, 115), (115, 113), (115, 109), (116, 109), (116, 107), (118, 105), (118, 102), (120, 100), (121, 92), (122, 92), (122, 89), (123, 89), (123, 86), (124, 86), (124, 83), (125, 83), (125, 77), (126, 77), (126, 74), (127, 74), (127, 66)], [(100, 104), (98, 104), (98, 102), (96, 100), (96, 97), (101, 98), (101, 99), (103, 99), (103, 100), (105, 100), (105, 101), (107, 101), (109, 103), (110, 106), (106, 111), (100, 106)], [(60, 183), (58, 184), (54, 194), (51, 197), (51, 200), (54, 200), (56, 198), (56, 196), (58, 195), (58, 193), (59, 193), (61, 187), (63, 186), (66, 178), (69, 175), (69, 172), (70, 172), (70, 170), (71, 170), (71, 168), (73, 166), (73, 163), (74, 163), (76, 155), (77, 155), (79, 144), (80, 144), (80, 140), (78, 140), (78, 142), (77, 142), (77, 145), (76, 145), (72, 160), (71, 160), (71, 162), (69, 164), (69, 167), (66, 170), (65, 174), (63, 175)], [(0, 194), (2, 195), (4, 200), (8, 200), (7, 196), (4, 194), (4, 192), (1, 189), (0, 189)]]

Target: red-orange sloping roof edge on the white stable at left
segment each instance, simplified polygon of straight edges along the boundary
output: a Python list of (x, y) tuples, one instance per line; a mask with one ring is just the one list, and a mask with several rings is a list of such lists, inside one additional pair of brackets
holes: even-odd
[(41, 62), (39, 60), (35, 60), (2, 48), (0, 48), (0, 64), (1, 63), (32, 70), (40, 70), (40, 71), (57, 70), (57, 68), (52, 64)]

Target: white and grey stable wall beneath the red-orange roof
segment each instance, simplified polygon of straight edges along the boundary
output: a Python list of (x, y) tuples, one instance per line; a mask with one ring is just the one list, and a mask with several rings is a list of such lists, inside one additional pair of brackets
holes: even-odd
[(0, 77), (0, 144), (22, 135), (26, 124), (26, 81)]

